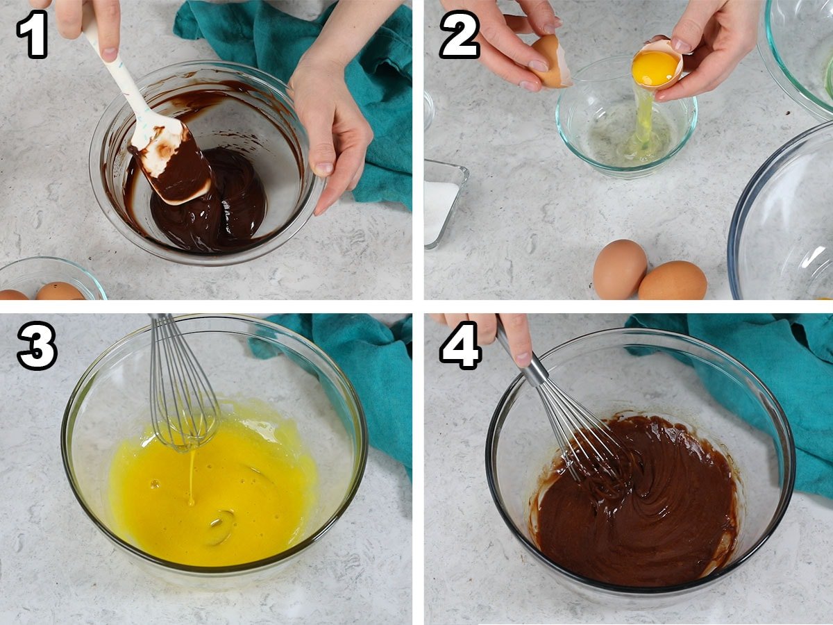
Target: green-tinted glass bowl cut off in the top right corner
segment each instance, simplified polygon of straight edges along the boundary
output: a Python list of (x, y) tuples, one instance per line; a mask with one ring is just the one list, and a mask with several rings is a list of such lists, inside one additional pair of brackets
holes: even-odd
[(833, 2), (766, 0), (758, 50), (788, 96), (833, 119)]

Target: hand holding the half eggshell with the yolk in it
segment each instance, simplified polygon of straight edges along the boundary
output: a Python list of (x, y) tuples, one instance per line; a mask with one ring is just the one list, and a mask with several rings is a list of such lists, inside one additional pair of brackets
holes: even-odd
[(656, 92), (656, 101), (700, 95), (726, 80), (755, 49), (760, 12), (761, 0), (689, 0), (671, 32), (671, 47), (686, 55), (683, 65), (691, 73)]

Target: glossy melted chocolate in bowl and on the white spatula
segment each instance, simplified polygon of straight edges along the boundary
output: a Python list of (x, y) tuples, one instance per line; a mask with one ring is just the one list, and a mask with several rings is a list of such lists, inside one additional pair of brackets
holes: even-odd
[[(162, 102), (172, 102), (178, 110), (184, 111), (177, 115), (182, 122), (197, 117), (205, 109), (215, 106), (227, 97), (235, 97), (235, 93), (245, 95), (252, 92), (253, 87), (244, 82), (222, 81), (219, 84), (232, 89), (232, 92), (217, 88), (217, 84), (211, 87), (192, 91), (176, 96), (162, 98)], [(258, 92), (259, 93), (259, 92)], [(251, 106), (242, 98), (240, 102)], [(272, 107), (283, 108), (281, 102), (272, 98)], [(156, 104), (155, 104), (156, 105)], [(286, 137), (283, 128), (275, 126), (278, 132)], [(190, 133), (189, 133), (190, 135)], [(189, 137), (191, 143), (194, 142)], [(252, 137), (257, 143), (257, 138)], [(177, 155), (171, 159), (159, 178), (154, 181), (154, 186), (161, 184), (163, 194), (168, 199), (177, 197), (177, 188), (182, 188), (187, 193), (187, 188), (193, 188), (195, 176), (204, 176), (205, 163), (193, 158), (177, 159), (180, 153), (200, 154), (196, 143), (183, 141)], [(295, 153), (299, 175), (302, 174), (302, 154), (297, 148), (297, 138), (287, 137), (287, 144)], [(132, 190), (135, 188), (137, 178), (142, 176), (141, 168), (137, 163), (137, 153), (131, 150), (133, 158), (127, 166), (127, 178), (124, 185), (124, 196), (127, 204), (127, 221), (138, 232), (147, 237), (141, 225), (133, 213)], [(165, 203), (158, 194), (153, 191), (150, 201), (151, 215), (157, 228), (181, 248), (192, 253), (232, 253), (251, 248), (262, 238), (271, 236), (272, 233), (262, 238), (254, 238), (254, 233), (260, 227), (267, 210), (266, 192), (261, 178), (242, 154), (229, 148), (212, 148), (202, 151), (202, 156), (207, 161), (212, 175), (212, 186), (208, 193), (200, 198), (189, 202), (172, 206)], [(170, 170), (170, 171), (169, 171)], [(157, 184), (158, 183), (158, 184)], [(169, 193), (170, 192), (170, 193)], [(182, 197), (182, 195), (180, 195)], [(187, 197), (187, 196), (186, 196)]]

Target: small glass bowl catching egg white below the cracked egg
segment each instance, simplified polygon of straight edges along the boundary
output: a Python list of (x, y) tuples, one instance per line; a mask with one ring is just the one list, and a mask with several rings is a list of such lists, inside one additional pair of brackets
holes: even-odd
[(641, 178), (656, 172), (688, 143), (697, 125), (696, 98), (654, 102), (655, 127), (659, 119), (670, 134), (667, 152), (649, 163), (611, 164), (600, 152), (601, 147), (616, 150), (636, 129), (632, 59), (621, 54), (583, 67), (573, 75), (575, 85), (561, 89), (556, 104), (556, 126), (566, 147), (585, 163), (614, 178)]

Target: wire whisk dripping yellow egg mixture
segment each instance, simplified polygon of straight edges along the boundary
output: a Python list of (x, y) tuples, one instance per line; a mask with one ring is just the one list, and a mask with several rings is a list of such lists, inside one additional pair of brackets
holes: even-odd
[(168, 447), (187, 452), (212, 438), (220, 403), (174, 318), (150, 317), (153, 433)]

